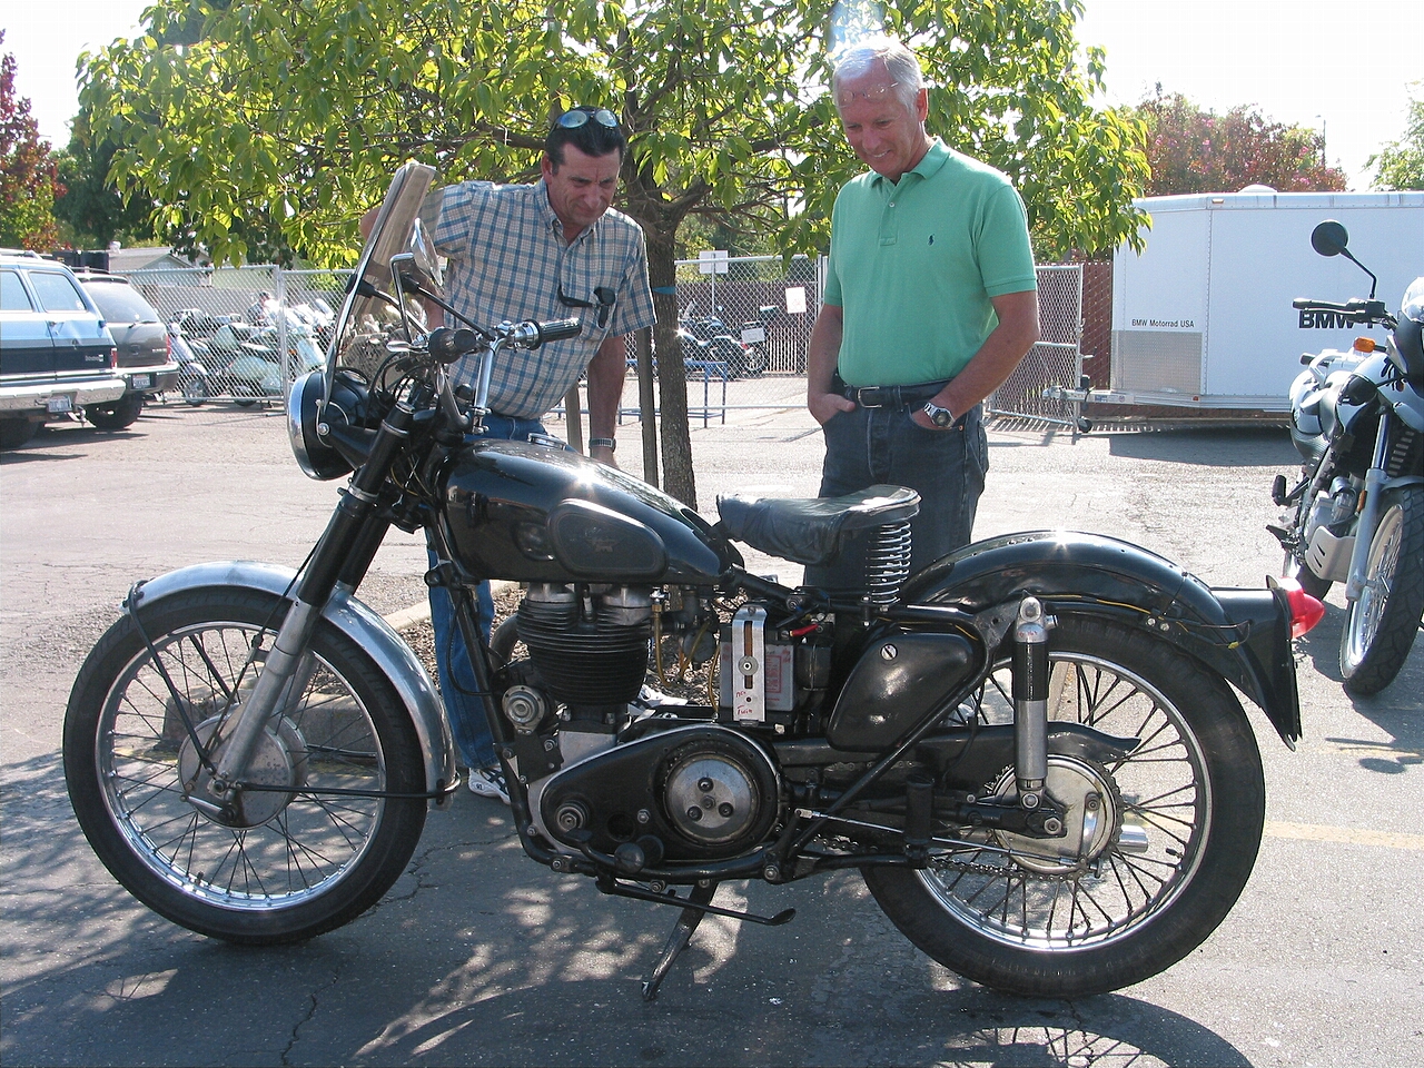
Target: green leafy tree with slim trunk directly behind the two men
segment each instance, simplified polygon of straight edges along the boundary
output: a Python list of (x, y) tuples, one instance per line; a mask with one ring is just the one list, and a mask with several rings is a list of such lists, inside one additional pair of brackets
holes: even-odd
[[(551, 115), (607, 104), (631, 131), (619, 206), (648, 235), (655, 288), (678, 231), (773, 232), (824, 248), (836, 191), (863, 169), (817, 88), (844, 31), (833, 0), (161, 0), (148, 33), (87, 64), (83, 101), (118, 144), (111, 177), (158, 205), (161, 236), (215, 261), (258, 249), (350, 262), (356, 218), (399, 162), (444, 179), (535, 174)], [(1141, 128), (1095, 112), (1074, 56), (1079, 0), (890, 0), (920, 51), (934, 132), (1002, 168), (1040, 248), (1135, 239)], [(879, 28), (879, 26), (873, 27)], [(181, 242), (179, 242), (181, 244)], [(656, 352), (669, 491), (695, 500), (676, 302)]]

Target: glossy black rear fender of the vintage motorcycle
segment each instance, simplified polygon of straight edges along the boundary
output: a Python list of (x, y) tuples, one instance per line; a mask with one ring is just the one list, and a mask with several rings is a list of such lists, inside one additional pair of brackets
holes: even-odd
[[(1269, 581), (1269, 580), (1267, 580)], [(1057, 614), (1108, 615), (1141, 627), (1216, 671), (1266, 712), (1296, 748), (1300, 698), (1282, 590), (1213, 590), (1172, 561), (1102, 534), (1032, 531), (965, 545), (911, 575), (906, 604), (978, 612), (1020, 597)]]

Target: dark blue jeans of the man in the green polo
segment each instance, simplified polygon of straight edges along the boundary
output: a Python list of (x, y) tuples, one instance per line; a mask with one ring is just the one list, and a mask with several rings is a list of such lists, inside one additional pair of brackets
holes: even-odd
[[(826, 460), (820, 496), (840, 497), (870, 486), (906, 486), (920, 494), (910, 521), (910, 574), (967, 545), (988, 471), (983, 409), (974, 406), (951, 430), (926, 430), (904, 407), (856, 407), (822, 427)], [(864, 587), (864, 554), (874, 531), (843, 538), (840, 555), (807, 567), (806, 584), (826, 590)]]

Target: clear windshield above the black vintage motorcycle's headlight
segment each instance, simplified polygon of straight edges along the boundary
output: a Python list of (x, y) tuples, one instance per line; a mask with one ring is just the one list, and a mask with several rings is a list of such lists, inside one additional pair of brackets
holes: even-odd
[[(434, 177), (433, 167), (412, 159), (396, 171), (390, 189), (386, 191), (370, 236), (362, 248), (356, 276), (342, 302), (328, 355), (328, 396), (330, 396), (332, 376), (337, 369), (355, 370), (370, 380), (390, 355), (390, 345), (409, 340), (392, 281), (393, 256), (403, 256), (399, 265), (403, 278), (417, 282), (436, 296), (444, 296), (440, 263), (419, 218), (420, 204)], [(407, 296), (404, 309), (410, 329), (424, 332), (426, 315), (422, 302)]]

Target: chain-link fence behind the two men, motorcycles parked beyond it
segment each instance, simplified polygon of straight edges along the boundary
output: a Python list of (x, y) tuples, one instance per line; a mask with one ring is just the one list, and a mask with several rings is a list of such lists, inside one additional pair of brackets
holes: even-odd
[[(806, 346), (820, 309), (824, 259), (732, 256), (678, 261), (678, 342), (686, 366), (689, 416), (726, 422), (729, 410), (799, 409), (806, 397)], [(1038, 268), (1041, 340), (990, 399), (998, 417), (1074, 423), (1045, 386), (1077, 386), (1084, 375), (1085, 278), (1111, 299), (1109, 265)], [(1106, 268), (1104, 272), (1095, 268)], [(322, 366), (350, 272), (283, 268), (158, 268), (127, 273), (191, 349), (179, 357), (184, 400), (242, 406), (281, 403), (290, 383)], [(1104, 290), (1104, 279), (1106, 289)], [(1096, 286), (1096, 288), (1094, 288)], [(1111, 308), (1111, 303), (1108, 305)], [(1089, 325), (1091, 326), (1091, 325)], [(1111, 343), (1111, 323), (1098, 345)], [(1106, 384), (1108, 352), (1091, 373)], [(551, 413), (562, 417), (562, 409)], [(637, 337), (628, 337), (621, 419), (638, 419)]]

